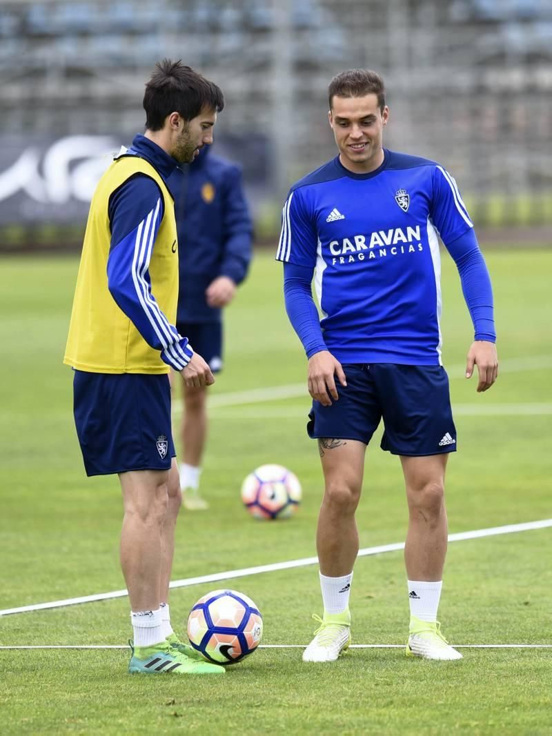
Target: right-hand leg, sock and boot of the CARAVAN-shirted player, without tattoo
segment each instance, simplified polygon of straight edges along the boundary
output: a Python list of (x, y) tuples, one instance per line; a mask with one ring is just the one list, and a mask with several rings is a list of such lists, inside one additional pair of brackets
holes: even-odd
[(411, 612), (406, 651), (426, 659), (461, 659), (436, 620), (447, 553), (447, 458), (401, 457), (408, 500), (405, 563)]

